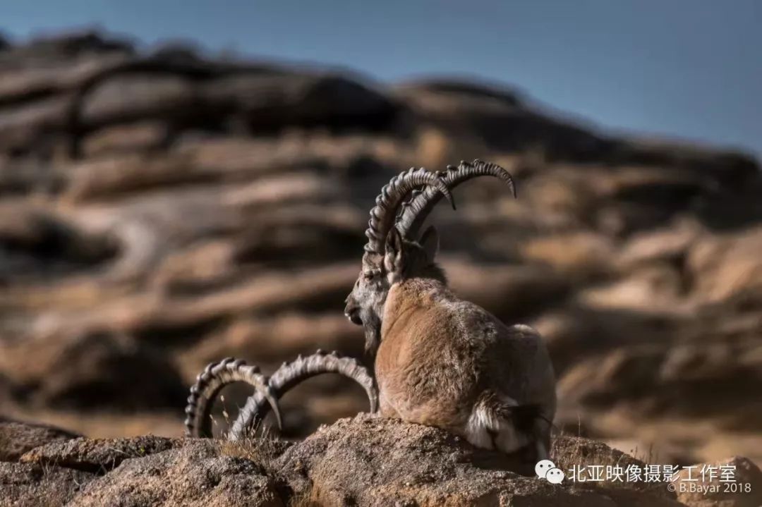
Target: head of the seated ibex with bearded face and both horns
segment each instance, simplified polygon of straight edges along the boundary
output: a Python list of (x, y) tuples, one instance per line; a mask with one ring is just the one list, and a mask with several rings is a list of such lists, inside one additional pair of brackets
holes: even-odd
[[(428, 228), (417, 241), (418, 231), (442, 196), (455, 209), (450, 189), (477, 176), (498, 177), (516, 195), (513, 179), (507, 171), (496, 164), (475, 160), (473, 163), (461, 161), (458, 167), (447, 166), (447, 171), (436, 173), (411, 168), (393, 177), (376, 197), (365, 231), (368, 242), (360, 276), (344, 308), (349, 320), (363, 326), (365, 351), (370, 356), (375, 354), (380, 342), (383, 305), (395, 277), (432, 276), (444, 281), (443, 272), (434, 263), (439, 244), (437, 231)], [(418, 191), (421, 187), (424, 190)], [(412, 193), (411, 199), (403, 202), (408, 193)]]

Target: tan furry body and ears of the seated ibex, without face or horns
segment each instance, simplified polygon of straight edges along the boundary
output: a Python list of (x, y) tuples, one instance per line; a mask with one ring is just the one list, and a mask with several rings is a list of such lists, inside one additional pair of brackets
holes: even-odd
[(386, 244), (390, 289), (376, 381), (383, 416), (439, 426), (482, 448), (527, 448), (548, 458), (555, 378), (528, 326), (507, 327), (459, 300), (434, 264), (436, 234), (421, 244), (393, 229)]

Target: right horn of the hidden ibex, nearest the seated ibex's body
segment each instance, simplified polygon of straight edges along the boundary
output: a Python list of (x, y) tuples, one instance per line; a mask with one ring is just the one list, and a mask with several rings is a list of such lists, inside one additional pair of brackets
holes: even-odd
[[(280, 398), (296, 384), (323, 373), (338, 373), (356, 381), (368, 395), (371, 413), (378, 410), (379, 400), (376, 384), (373, 383), (373, 377), (367, 368), (361, 365), (357, 359), (340, 357), (337, 352), (326, 354), (322, 350), (318, 350), (312, 356), (300, 356), (296, 361), (284, 362), (270, 378), (269, 386), (273, 394)], [(228, 432), (228, 438), (231, 440), (245, 438), (248, 430), (254, 428), (258, 421), (267, 416), (269, 409), (265, 401), (266, 398), (261, 391), (251, 395), (233, 422), (233, 426)]]

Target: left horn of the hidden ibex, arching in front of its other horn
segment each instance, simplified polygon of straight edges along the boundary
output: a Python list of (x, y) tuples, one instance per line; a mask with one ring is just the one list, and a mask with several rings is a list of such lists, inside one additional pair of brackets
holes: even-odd
[(254, 386), (255, 395), (270, 403), (275, 411), (278, 427), (282, 427), (277, 397), (267, 385), (267, 377), (259, 372), (257, 366), (249, 366), (242, 359), (234, 360), (228, 357), (207, 365), (191, 387), (191, 396), (188, 397), (185, 407), (185, 435), (202, 438), (212, 436), (212, 402), (223, 387), (233, 382), (246, 382)]

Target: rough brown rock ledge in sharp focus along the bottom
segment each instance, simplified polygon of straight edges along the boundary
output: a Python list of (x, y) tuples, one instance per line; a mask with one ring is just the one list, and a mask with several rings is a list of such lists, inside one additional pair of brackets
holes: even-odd
[[(555, 439), (552, 458), (574, 465), (645, 467), (585, 438)], [(52, 442), (0, 463), (2, 505), (567, 505), (741, 507), (758, 493), (689, 495), (666, 483), (552, 484), (516, 474), (513, 458), (427, 426), (360, 414), (302, 442), (136, 437)], [(762, 472), (735, 458), (752, 492)], [(677, 500), (680, 500), (680, 503)]]

